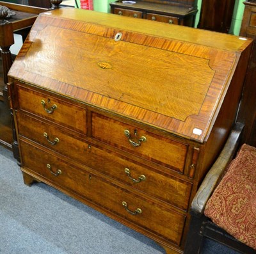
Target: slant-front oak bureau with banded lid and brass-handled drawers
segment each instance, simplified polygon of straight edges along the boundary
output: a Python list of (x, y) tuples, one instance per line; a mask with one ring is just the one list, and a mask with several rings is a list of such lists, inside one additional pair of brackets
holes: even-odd
[(42, 13), (9, 72), (25, 184), (45, 182), (182, 253), (250, 50), (250, 39), (150, 20)]

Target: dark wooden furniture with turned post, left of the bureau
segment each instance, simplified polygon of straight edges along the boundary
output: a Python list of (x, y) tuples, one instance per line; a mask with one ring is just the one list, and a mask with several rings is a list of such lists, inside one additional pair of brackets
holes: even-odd
[[(62, 0), (51, 0), (52, 7), (58, 8)], [(8, 70), (12, 66), (15, 56), (12, 56), (10, 47), (14, 44), (13, 34), (22, 35), (26, 39), (31, 26), (34, 24), (39, 13), (47, 12), (49, 9), (13, 4), (0, 1), (1, 6), (6, 6), (15, 12), (15, 15), (6, 19), (6, 13), (1, 13), (0, 22), (0, 48), (1, 48), (1, 77), (0, 77), (0, 145), (12, 149), (14, 157), (19, 160), (15, 130), (13, 129), (12, 116), (7, 96)]]

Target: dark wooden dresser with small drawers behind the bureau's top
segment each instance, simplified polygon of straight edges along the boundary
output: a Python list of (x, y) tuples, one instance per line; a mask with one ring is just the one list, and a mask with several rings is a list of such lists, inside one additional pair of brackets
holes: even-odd
[(186, 1), (143, 1), (136, 3), (122, 3), (117, 1), (110, 3), (111, 13), (134, 17), (138, 19), (149, 19), (169, 24), (182, 26), (194, 26), (197, 6), (195, 0)]

